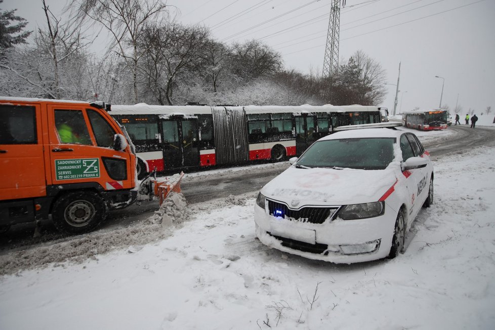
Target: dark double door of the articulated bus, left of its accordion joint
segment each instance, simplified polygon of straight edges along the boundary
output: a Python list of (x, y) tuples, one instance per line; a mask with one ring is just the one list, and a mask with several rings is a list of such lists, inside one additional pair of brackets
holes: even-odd
[(165, 169), (199, 166), (196, 118), (162, 120)]

